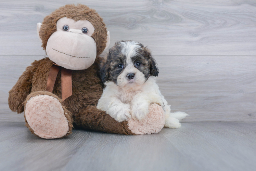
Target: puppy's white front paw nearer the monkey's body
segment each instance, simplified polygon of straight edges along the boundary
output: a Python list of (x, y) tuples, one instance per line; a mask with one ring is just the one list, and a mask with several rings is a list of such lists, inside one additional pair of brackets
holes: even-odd
[(107, 114), (114, 118), (117, 122), (122, 122), (131, 117), (131, 109), (129, 104), (119, 104), (108, 108)]

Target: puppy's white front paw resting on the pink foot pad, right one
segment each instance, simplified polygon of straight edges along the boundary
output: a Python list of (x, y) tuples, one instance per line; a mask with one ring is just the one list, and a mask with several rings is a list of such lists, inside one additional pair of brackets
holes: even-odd
[(131, 107), (131, 117), (133, 119), (143, 120), (145, 116), (149, 113), (149, 104), (140, 103), (137, 105), (132, 105)]

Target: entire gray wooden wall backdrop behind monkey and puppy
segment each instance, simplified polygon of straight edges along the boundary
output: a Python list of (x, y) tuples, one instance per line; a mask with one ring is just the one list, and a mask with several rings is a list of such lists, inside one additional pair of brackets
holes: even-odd
[[(256, 1), (1, 0), (0, 120), (24, 121), (8, 91), (45, 52), (36, 24), (62, 5), (95, 9), (117, 40), (148, 45), (158, 84), (172, 111), (191, 121), (256, 121)], [(104, 55), (106, 52), (103, 52)]]

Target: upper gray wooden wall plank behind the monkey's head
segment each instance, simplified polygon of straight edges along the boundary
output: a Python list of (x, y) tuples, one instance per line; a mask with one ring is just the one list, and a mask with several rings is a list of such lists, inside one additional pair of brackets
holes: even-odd
[(36, 24), (55, 9), (95, 9), (117, 40), (148, 45), (156, 55), (256, 55), (256, 1), (9, 0), (0, 2), (0, 55), (43, 55)]

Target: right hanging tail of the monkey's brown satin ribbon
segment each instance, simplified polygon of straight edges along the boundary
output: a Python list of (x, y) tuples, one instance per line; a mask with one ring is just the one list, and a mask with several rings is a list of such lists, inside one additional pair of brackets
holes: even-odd
[(62, 100), (72, 95), (72, 70), (61, 69), (61, 94)]

